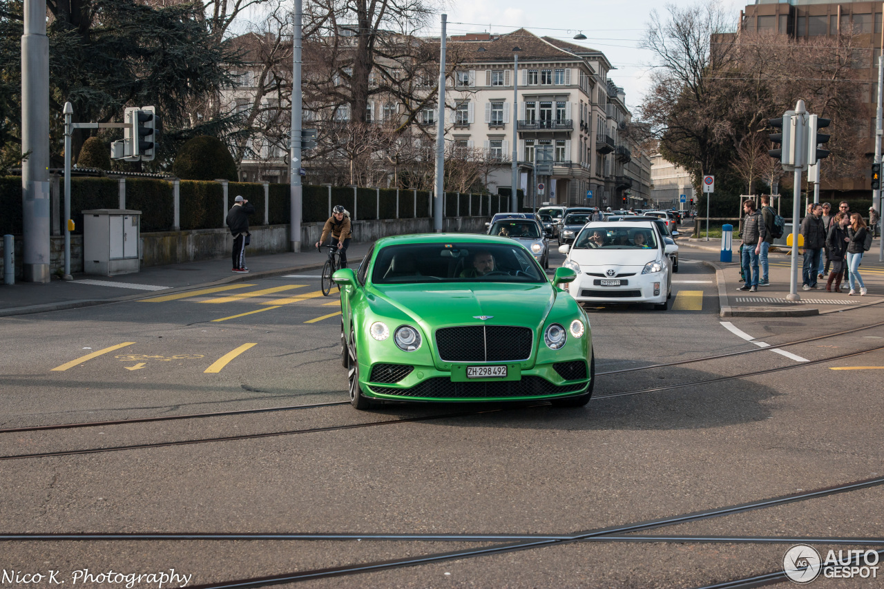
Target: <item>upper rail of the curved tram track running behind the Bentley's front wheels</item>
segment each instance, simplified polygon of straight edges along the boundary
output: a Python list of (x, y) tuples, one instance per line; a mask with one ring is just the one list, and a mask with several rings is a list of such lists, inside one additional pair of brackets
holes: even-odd
[[(781, 343), (781, 344), (772, 344), (771, 346), (769, 346), (767, 348), (751, 348), (751, 349), (744, 349), (744, 350), (740, 350), (740, 351), (736, 351), (736, 352), (728, 352), (725, 354), (719, 354), (716, 356), (703, 356), (700, 358), (690, 358), (687, 360), (679, 360), (677, 362), (650, 364), (648, 366), (637, 366), (635, 368), (625, 368), (625, 369), (618, 370), (618, 371), (596, 372), (596, 377), (610, 376), (613, 374), (624, 374), (627, 372), (654, 370), (654, 369), (658, 369), (658, 368), (667, 368), (670, 366), (681, 366), (684, 364), (706, 362), (709, 360), (719, 360), (721, 358), (728, 358), (728, 357), (733, 357), (733, 356), (743, 356), (744, 354), (754, 354), (756, 352), (770, 351), (771, 349), (779, 349), (779, 348), (786, 348), (789, 346), (796, 346), (797, 344), (808, 343), (810, 341), (826, 340), (828, 338), (838, 337), (841, 335), (847, 335), (849, 333), (857, 333), (857, 332), (865, 331), (867, 329), (873, 329), (874, 327), (880, 327), (880, 326), (884, 326), (884, 321), (881, 321), (879, 323), (873, 323), (871, 325), (862, 325), (859, 327), (846, 329), (841, 332), (828, 333), (828, 334), (824, 334), (824, 335), (817, 335), (812, 338), (804, 338), (803, 340), (794, 340), (794, 341), (787, 341), (787, 342)], [(870, 351), (874, 351), (874, 350), (870, 350)], [(860, 353), (865, 353), (865, 352), (860, 352)], [(816, 361), (816, 362), (819, 362), (819, 361)], [(807, 365), (807, 364), (808, 363), (803, 363), (803, 364), (799, 364), (799, 365)], [(732, 379), (735, 377), (726, 377), (726, 378)], [(704, 382), (705, 381), (697, 382), (697, 383), (690, 383), (688, 385), (676, 385), (676, 386), (702, 385), (702, 384), (704, 384)], [(643, 391), (648, 391), (648, 392), (653, 391), (653, 390), (658, 390), (658, 389), (643, 389)], [(619, 394), (612, 394), (612, 395), (596, 395), (593, 398), (600, 399), (600, 398), (603, 398), (606, 396), (638, 394), (643, 391), (633, 391), (633, 392), (619, 393)], [(150, 422), (174, 421), (174, 420), (179, 420), (179, 419), (202, 419), (202, 418), (206, 418), (206, 417), (225, 417), (225, 416), (232, 416), (232, 415), (248, 415), (248, 414), (253, 414), (253, 413), (271, 413), (274, 411), (316, 409), (316, 408), (322, 408), (322, 407), (334, 407), (334, 406), (347, 405), (347, 404), (349, 404), (349, 402), (347, 402), (347, 401), (335, 401), (335, 402), (325, 402), (325, 403), (308, 403), (305, 405), (284, 405), (284, 406), (279, 406), (279, 407), (267, 407), (267, 408), (260, 408), (260, 409), (234, 409), (234, 410), (229, 410), (229, 411), (214, 411), (214, 412), (210, 412), (210, 413), (189, 413), (189, 414), (184, 414), (184, 415), (163, 416), (163, 417), (133, 417), (133, 418), (129, 418), (129, 419), (112, 419), (112, 420), (106, 420), (106, 421), (88, 421), (88, 422), (82, 422), (82, 423), (69, 423), (69, 424), (57, 424), (57, 425), (26, 425), (26, 426), (22, 426), (22, 427), (10, 427), (10, 428), (5, 428), (5, 429), (0, 429), (0, 434), (20, 433), (20, 432), (40, 432), (40, 431), (50, 431), (50, 430), (66, 430), (66, 429), (74, 429), (74, 428), (80, 428), (80, 427), (98, 427), (98, 426), (104, 426), (104, 425), (141, 424), (141, 423), (150, 423)]]

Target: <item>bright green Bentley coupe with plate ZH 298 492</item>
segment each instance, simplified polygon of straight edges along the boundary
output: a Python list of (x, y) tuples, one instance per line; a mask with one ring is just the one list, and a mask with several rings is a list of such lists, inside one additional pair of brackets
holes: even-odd
[(595, 375), (590, 322), (518, 241), (488, 235), (378, 240), (339, 270), (350, 402), (549, 400), (579, 407)]

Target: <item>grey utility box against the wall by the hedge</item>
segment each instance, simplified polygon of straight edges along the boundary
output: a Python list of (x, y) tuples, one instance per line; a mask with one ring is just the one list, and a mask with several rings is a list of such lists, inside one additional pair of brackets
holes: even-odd
[(141, 210), (83, 211), (83, 271), (115, 276), (139, 271)]

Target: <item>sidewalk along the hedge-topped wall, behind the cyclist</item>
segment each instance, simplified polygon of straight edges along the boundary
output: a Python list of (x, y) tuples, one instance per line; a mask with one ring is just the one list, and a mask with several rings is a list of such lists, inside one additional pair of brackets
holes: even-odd
[[(245, 282), (289, 273), (309, 272), (317, 276), (328, 258), (328, 250), (316, 251), (312, 244), (307, 251), (286, 252), (268, 256), (248, 256), (251, 272), (231, 272), (230, 256), (187, 264), (142, 268), (141, 272), (114, 277), (75, 274), (72, 281), (53, 277), (49, 284), (16, 282), (0, 284), (0, 317), (27, 315), (51, 310), (77, 309), (108, 302), (139, 299), (162, 290), (164, 294), (199, 287), (215, 287), (232, 282)], [(347, 262), (355, 267), (369, 250), (370, 243), (351, 243)]]

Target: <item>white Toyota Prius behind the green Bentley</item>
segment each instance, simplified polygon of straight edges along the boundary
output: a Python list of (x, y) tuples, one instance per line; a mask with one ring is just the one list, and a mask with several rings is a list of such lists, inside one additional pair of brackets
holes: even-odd
[(577, 272), (568, 292), (577, 302), (616, 304), (650, 302), (667, 310), (672, 295), (672, 258), (652, 222), (588, 223), (562, 264)]

